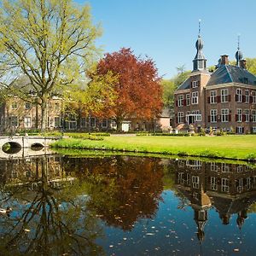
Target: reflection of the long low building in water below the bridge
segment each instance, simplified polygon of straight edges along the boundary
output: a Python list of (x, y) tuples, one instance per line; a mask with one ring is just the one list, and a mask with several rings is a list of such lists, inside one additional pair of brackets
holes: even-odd
[(43, 176), (55, 188), (69, 185), (74, 179), (67, 175), (56, 155), (0, 160), (0, 183), (4, 186), (27, 185), (29, 189), (37, 189)]

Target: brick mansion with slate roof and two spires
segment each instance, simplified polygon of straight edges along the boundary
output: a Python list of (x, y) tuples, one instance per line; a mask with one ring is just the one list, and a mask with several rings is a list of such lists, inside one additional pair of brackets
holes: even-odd
[(221, 55), (216, 70), (207, 70), (199, 30), (197, 50), (189, 78), (174, 93), (175, 127), (256, 133), (256, 77), (247, 71), (238, 43), (236, 66)]

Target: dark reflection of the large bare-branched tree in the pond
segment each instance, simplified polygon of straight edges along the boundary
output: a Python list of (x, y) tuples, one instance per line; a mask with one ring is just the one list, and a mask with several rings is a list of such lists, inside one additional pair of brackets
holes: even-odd
[[(22, 203), (10, 217), (0, 218), (0, 252), (29, 255), (101, 254), (102, 248), (95, 243), (101, 230), (93, 214), (84, 208), (87, 197), (83, 196), (83, 185), (73, 185), (61, 191), (54, 189), (47, 178), (47, 161), (42, 159), (38, 164), (42, 168), (42, 175), (36, 195), (24, 193), (23, 186), (9, 189), (8, 193), (5, 191), (5, 195), (11, 195), (9, 204), (12, 201), (15, 205), (17, 197)], [(29, 183), (26, 185), (30, 186)]]

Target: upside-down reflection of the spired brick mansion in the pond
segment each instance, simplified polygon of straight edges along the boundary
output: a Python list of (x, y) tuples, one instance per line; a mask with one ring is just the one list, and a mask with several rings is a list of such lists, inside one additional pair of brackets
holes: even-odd
[(222, 224), (229, 224), (232, 214), (241, 229), (247, 209), (256, 201), (256, 169), (247, 165), (177, 160), (177, 189), (191, 203), (198, 227), (198, 238), (204, 238), (207, 211), (214, 207)]

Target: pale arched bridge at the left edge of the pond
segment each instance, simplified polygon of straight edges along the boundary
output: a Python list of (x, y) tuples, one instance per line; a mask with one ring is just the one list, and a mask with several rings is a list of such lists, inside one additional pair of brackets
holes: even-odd
[[(21, 154), (24, 148), (43, 147), (48, 148), (50, 143), (61, 139), (62, 137), (44, 137), (44, 136), (0, 136), (0, 158), (6, 157), (8, 152), (3, 151), (3, 145), (9, 143), (10, 148), (15, 148), (10, 154)], [(23, 150), (21, 150), (21, 148)]]

